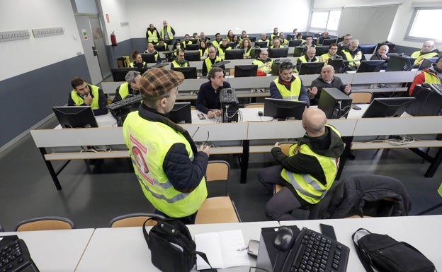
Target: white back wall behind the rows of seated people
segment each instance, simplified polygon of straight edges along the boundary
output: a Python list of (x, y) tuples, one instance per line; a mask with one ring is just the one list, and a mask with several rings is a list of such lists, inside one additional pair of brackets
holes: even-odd
[[(279, 0), (277, 6), (268, 0), (101, 0), (101, 8), (111, 20), (106, 23), (108, 45), (108, 36), (113, 30), (118, 41), (146, 37), (149, 24), (153, 23), (159, 29), (163, 20), (167, 20), (178, 36), (192, 35), (193, 32), (226, 35), (228, 30), (235, 34), (241, 34), (242, 30), (273, 32), (275, 27), (283, 32), (292, 32), (293, 28), (305, 30), (310, 0)], [(121, 27), (120, 22), (126, 21), (129, 26)]]

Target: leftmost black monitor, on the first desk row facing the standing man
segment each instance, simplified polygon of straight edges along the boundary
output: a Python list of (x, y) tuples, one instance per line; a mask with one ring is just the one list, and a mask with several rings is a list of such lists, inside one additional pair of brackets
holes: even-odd
[(52, 107), (63, 129), (98, 127), (90, 106)]

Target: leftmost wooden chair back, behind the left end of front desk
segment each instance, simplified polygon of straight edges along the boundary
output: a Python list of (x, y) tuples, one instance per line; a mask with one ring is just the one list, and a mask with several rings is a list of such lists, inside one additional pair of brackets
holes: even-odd
[(42, 216), (23, 220), (16, 225), (14, 231), (32, 230), (72, 230), (75, 228), (74, 222), (68, 218), (60, 216)]

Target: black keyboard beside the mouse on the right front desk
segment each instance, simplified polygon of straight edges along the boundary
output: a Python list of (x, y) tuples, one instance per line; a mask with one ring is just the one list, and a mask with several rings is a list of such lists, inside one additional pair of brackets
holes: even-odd
[(350, 249), (329, 237), (303, 228), (286, 259), (283, 272), (345, 272)]

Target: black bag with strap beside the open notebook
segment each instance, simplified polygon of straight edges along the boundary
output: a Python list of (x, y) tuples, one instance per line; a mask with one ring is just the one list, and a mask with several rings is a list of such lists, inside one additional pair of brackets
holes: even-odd
[[(148, 234), (146, 223), (149, 220), (156, 220), (157, 225), (154, 225)], [(196, 244), (192, 240), (191, 232), (180, 220), (148, 218), (143, 223), (142, 231), (151, 252), (152, 264), (161, 271), (191, 271), (196, 264), (196, 254), (209, 264), (207, 256), (203, 252), (196, 251)]]

